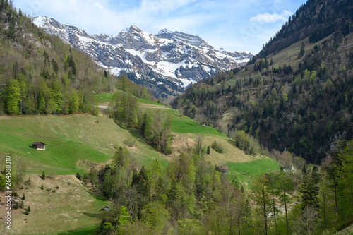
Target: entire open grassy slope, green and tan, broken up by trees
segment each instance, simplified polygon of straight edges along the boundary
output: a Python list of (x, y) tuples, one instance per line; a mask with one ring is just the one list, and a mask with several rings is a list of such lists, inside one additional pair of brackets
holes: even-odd
[[(110, 97), (111, 94), (97, 95), (97, 100), (107, 103)], [(171, 157), (193, 147), (201, 134), (205, 145), (217, 140), (225, 149), (224, 154), (211, 149), (205, 159), (212, 164), (228, 164), (229, 174), (239, 176), (242, 181), (249, 181), (241, 178), (243, 171), (253, 176), (276, 168), (273, 160), (245, 155), (225, 135), (210, 127), (196, 126), (193, 119), (180, 117), (174, 109), (148, 100), (139, 99), (139, 102), (145, 110), (160, 110), (171, 116), (174, 133)], [(13, 212), (17, 228), (13, 234), (90, 234), (97, 229), (104, 216), (100, 209), (109, 203), (95, 198), (73, 174), (105, 164), (114, 155), (113, 147), (124, 145), (123, 141), (130, 138), (135, 138), (136, 144), (128, 150), (140, 164), (149, 164), (157, 158), (162, 167), (167, 165), (169, 157), (153, 150), (136, 131), (123, 130), (106, 116), (0, 116), (0, 153), (11, 155), (14, 162), (24, 162), (30, 172), (26, 177), (32, 179), (32, 186), (25, 189), (25, 206), (31, 205), (32, 212), (30, 215), (24, 215), (23, 210)], [(35, 141), (46, 143), (47, 150), (33, 150), (30, 144)], [(39, 177), (43, 170), (47, 174), (54, 171), (59, 176), (43, 181)], [(40, 189), (41, 184), (44, 191)], [(56, 186), (59, 189), (55, 193), (46, 191)], [(22, 195), (23, 191), (18, 193)], [(1, 229), (3, 225), (0, 234)]]

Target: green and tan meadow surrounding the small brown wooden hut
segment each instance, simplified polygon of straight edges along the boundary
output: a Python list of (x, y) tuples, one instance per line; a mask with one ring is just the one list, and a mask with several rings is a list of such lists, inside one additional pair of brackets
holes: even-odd
[[(114, 155), (113, 147), (125, 146), (128, 138), (136, 138), (129, 151), (141, 164), (156, 158), (167, 162), (138, 133), (119, 128), (105, 116), (0, 116), (0, 137), (1, 152), (27, 162), (32, 173), (88, 171), (92, 164), (107, 162)], [(47, 149), (32, 149), (35, 141), (46, 143)]]

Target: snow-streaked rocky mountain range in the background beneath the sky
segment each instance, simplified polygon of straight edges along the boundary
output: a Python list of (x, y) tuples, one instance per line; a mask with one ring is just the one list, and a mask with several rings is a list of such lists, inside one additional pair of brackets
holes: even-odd
[(32, 20), (103, 68), (116, 75), (128, 73), (131, 80), (164, 97), (177, 95), (198, 80), (244, 65), (252, 58), (246, 52), (214, 49), (200, 37), (183, 32), (160, 30), (152, 35), (132, 25), (117, 35), (88, 35), (53, 18), (38, 16)]

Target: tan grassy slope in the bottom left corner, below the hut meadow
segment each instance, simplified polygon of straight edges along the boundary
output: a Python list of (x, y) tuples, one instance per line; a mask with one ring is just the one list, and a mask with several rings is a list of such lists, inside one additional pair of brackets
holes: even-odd
[[(0, 234), (79, 234), (75, 231), (90, 234), (107, 215), (102, 208), (110, 202), (92, 196), (73, 175), (45, 180), (37, 174), (28, 177), (32, 185), (17, 192), (19, 195), (25, 192), (25, 208), (30, 205), (30, 214), (25, 215), (22, 209), (11, 210), (12, 229), (7, 231), (4, 222), (1, 222)], [(44, 190), (40, 189), (42, 185)], [(56, 186), (59, 188), (56, 189)], [(48, 188), (56, 191), (49, 192)], [(5, 212), (5, 208), (0, 207), (1, 215)], [(66, 233), (68, 229), (73, 230)]]

